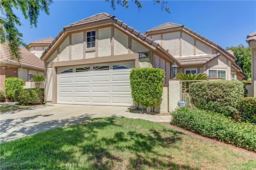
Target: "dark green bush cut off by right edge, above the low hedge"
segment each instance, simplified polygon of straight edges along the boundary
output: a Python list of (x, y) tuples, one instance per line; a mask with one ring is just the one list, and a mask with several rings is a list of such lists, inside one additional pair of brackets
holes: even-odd
[(256, 123), (256, 98), (241, 98), (237, 102), (236, 109), (242, 121)]

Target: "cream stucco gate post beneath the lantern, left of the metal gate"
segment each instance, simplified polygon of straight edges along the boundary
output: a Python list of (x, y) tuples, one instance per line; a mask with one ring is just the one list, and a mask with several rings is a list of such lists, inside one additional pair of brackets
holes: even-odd
[(180, 101), (180, 79), (169, 79), (169, 112), (172, 113)]

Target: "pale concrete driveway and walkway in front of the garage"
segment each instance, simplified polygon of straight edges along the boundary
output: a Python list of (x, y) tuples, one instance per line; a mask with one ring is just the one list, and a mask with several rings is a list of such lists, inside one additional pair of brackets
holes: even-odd
[(0, 143), (86, 121), (97, 117), (128, 117), (170, 122), (170, 115), (130, 113), (128, 107), (85, 105), (42, 105), (0, 113)]

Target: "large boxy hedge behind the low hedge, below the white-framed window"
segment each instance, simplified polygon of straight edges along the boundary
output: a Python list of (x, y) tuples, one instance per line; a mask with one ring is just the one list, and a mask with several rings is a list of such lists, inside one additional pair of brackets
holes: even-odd
[(190, 100), (196, 107), (233, 117), (236, 102), (244, 96), (240, 81), (204, 81), (190, 85)]

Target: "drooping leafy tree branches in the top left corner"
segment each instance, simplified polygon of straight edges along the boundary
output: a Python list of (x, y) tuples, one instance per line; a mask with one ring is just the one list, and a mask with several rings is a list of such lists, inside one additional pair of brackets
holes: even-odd
[(21, 26), (20, 18), (14, 14), (13, 9), (21, 10), (25, 19), (30, 20), (30, 27), (37, 27), (37, 19), (40, 11), (50, 15), (49, 6), (52, 0), (0, 0), (0, 36), (1, 43), (9, 42), (9, 49), (13, 60), (20, 63), (19, 46), (26, 46), (22, 41), (22, 33), (18, 31), (16, 25)]

